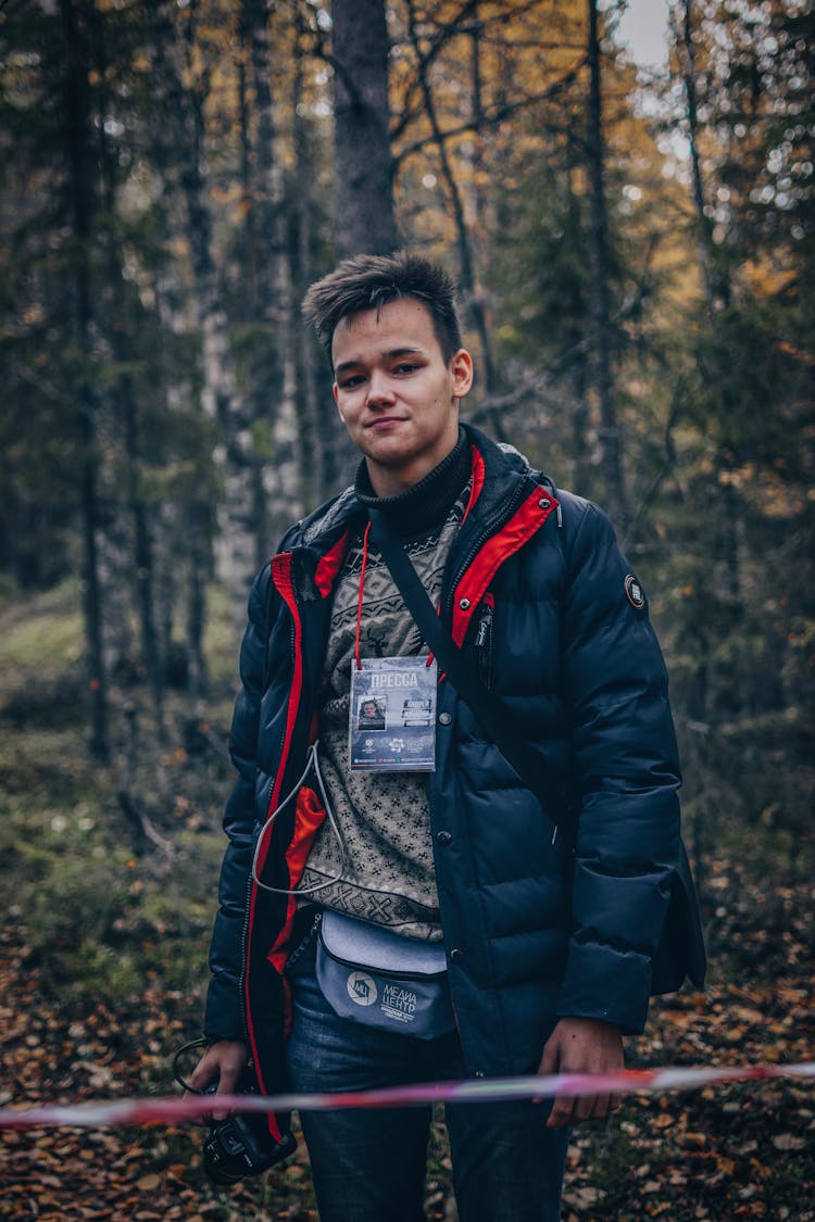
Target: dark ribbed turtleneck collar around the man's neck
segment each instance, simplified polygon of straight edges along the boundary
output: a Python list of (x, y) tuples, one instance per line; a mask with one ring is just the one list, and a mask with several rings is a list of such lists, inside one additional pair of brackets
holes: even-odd
[(395, 534), (411, 539), (445, 521), (469, 475), (469, 446), (464, 430), (459, 428), (455, 448), (413, 488), (396, 496), (376, 496), (363, 458), (357, 468), (354, 491), (365, 510), (379, 510), (387, 517)]

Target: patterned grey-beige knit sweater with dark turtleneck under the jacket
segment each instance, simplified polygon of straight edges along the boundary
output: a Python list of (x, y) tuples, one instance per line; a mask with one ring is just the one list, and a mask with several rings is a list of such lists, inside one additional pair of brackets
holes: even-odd
[[(450, 547), (464, 516), (468, 479), (469, 453), (463, 434), (452, 453), (400, 496), (378, 499), (364, 461), (357, 473), (358, 500), (365, 508), (376, 507), (387, 514), (433, 602), (439, 601)], [(319, 698), (318, 758), (336, 827), (326, 819), (320, 829), (301, 890), (309, 901), (326, 908), (409, 937), (437, 941), (441, 926), (426, 775), (349, 769), (351, 666), (363, 550), (360, 533), (351, 543), (337, 582)], [(402, 595), (373, 547), (368, 549), (362, 599), (360, 657), (428, 654)]]

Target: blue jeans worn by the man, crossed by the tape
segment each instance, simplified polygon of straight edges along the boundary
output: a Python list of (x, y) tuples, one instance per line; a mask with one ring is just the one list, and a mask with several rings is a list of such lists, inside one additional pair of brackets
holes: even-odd
[[(296, 1091), (368, 1090), (466, 1077), (457, 1033), (437, 1040), (340, 1018), (314, 976), (314, 945), (288, 970)], [(461, 1222), (557, 1222), (568, 1133), (549, 1105), (448, 1103), (445, 1121)], [(420, 1222), (431, 1108), (304, 1112), (321, 1222)]]

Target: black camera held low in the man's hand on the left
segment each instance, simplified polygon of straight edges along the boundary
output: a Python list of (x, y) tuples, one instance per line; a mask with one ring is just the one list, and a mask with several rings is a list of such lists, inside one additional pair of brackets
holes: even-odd
[[(205, 1094), (214, 1095), (215, 1084)], [(252, 1077), (244, 1077), (238, 1092), (257, 1095)], [(211, 1121), (204, 1141), (204, 1171), (215, 1184), (237, 1184), (250, 1176), (260, 1176), (297, 1149), (293, 1135), (285, 1130), (280, 1141), (269, 1132), (268, 1117), (261, 1112), (233, 1112), (224, 1121)]]

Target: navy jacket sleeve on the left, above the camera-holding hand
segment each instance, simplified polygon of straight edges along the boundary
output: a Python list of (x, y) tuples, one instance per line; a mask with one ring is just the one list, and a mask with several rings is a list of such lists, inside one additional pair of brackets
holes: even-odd
[(258, 726), (266, 678), (270, 600), (276, 596), (266, 565), (249, 595), (249, 620), (241, 645), (241, 690), (230, 733), (230, 755), (238, 777), (224, 811), (228, 844), (221, 865), (219, 909), (209, 952), (211, 980), (204, 1014), (208, 1039), (246, 1040), (241, 1001), (242, 946), (252, 869)]

